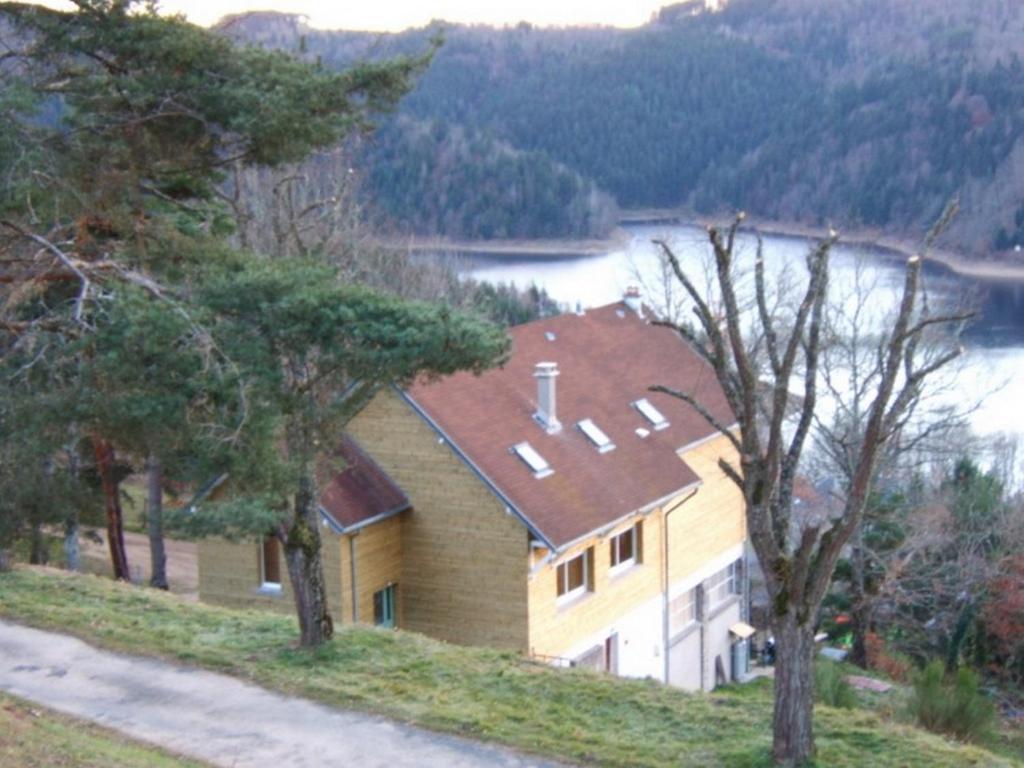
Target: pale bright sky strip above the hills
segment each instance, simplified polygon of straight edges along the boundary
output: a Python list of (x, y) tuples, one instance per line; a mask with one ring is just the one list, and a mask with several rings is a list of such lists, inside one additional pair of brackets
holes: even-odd
[[(396, 32), (423, 27), (432, 19), (464, 24), (537, 26), (606, 25), (638, 27), (674, 0), (161, 0), (163, 10), (183, 13), (194, 24), (209, 26), (228, 13), (278, 10), (302, 13), (319, 29)], [(65, 7), (60, 0), (46, 5)]]

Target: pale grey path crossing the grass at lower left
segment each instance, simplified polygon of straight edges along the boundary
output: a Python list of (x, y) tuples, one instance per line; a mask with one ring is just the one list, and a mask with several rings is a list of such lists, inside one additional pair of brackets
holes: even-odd
[(220, 766), (555, 765), (7, 622), (0, 622), (0, 690)]

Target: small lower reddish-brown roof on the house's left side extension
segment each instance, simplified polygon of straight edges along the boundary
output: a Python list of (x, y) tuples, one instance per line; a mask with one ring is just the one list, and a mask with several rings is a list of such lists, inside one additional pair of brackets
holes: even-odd
[(321, 467), (321, 510), (338, 530), (409, 509), (409, 497), (349, 436)]

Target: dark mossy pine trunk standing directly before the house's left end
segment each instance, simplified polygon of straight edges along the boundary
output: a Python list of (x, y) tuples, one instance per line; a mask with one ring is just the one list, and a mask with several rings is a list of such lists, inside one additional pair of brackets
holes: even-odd
[(311, 476), (302, 478), (301, 488), (295, 495), (292, 524), (284, 544), (302, 633), (300, 642), (304, 648), (312, 648), (331, 639), (334, 623), (328, 613), (316, 482)]

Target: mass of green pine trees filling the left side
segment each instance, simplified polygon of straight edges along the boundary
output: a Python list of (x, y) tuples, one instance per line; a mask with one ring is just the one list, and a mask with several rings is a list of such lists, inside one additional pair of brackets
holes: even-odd
[[(368, 129), (430, 44), (333, 72), (132, 0), (3, 4), (0, 24), (11, 34), (0, 123), (15, 136), (0, 139), (0, 375), (19, 395), (0, 409), (0, 551), (72, 498), (79, 436), (118, 579), (129, 566), (115, 450), (144, 461), (154, 506), (165, 473), (195, 484), (231, 473), (242, 498), (214, 523), (282, 541), (302, 643), (322, 643), (322, 455), (377, 388), (479, 372), (507, 340), (444, 305), (345, 285), (330, 254), (232, 248), (218, 184), (228, 165), (296, 163)], [(34, 433), (23, 424), (37, 415), (46, 430)], [(156, 563), (159, 514), (150, 523)]]

